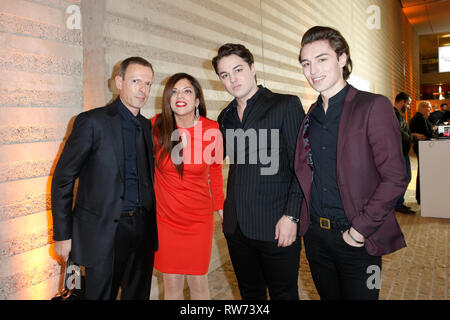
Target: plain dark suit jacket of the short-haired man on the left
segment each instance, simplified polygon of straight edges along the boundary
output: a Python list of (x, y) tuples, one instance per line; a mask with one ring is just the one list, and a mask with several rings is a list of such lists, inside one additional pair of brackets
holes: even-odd
[[(72, 259), (86, 267), (110, 256), (124, 195), (124, 151), (120, 98), (75, 119), (52, 180), (53, 238), (72, 239)], [(149, 150), (152, 183), (151, 123), (139, 114)], [(74, 203), (74, 183), (79, 178)], [(153, 191), (153, 188), (151, 188)], [(154, 199), (154, 194), (151, 195)], [(155, 201), (153, 201), (155, 203)], [(74, 205), (73, 205), (74, 204)], [(157, 250), (156, 210), (145, 217), (148, 238)]]

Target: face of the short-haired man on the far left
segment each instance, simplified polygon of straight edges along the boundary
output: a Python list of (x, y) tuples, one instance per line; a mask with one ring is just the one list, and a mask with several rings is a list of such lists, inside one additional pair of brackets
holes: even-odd
[(153, 83), (150, 67), (130, 64), (123, 78), (116, 76), (116, 87), (120, 91), (120, 100), (134, 115), (145, 105)]

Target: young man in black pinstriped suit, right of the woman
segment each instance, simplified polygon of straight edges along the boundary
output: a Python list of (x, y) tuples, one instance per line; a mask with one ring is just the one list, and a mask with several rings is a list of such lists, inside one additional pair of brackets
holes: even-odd
[(298, 299), (302, 192), (294, 153), (305, 115), (297, 96), (256, 85), (253, 55), (225, 44), (212, 61), (235, 99), (218, 122), (230, 159), (223, 231), (241, 296)]

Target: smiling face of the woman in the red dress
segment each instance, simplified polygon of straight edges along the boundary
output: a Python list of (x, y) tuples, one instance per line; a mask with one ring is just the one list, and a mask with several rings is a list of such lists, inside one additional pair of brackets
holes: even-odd
[(181, 79), (175, 83), (169, 101), (170, 108), (175, 116), (179, 117), (193, 116), (195, 107), (200, 103), (195, 95), (194, 86), (188, 79)]

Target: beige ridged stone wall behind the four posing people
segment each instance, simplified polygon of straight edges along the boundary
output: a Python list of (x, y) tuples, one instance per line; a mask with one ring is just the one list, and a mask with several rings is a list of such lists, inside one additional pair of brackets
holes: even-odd
[[(83, 32), (70, 30), (66, 8), (80, 5)], [(367, 27), (375, 5), (380, 29)], [(140, 55), (156, 72), (144, 115), (160, 110), (164, 80), (197, 77), (208, 115), (231, 97), (210, 60), (225, 42), (240, 42), (256, 59), (258, 82), (316, 99), (298, 63), (302, 34), (329, 25), (347, 38), (354, 75), (391, 100), (419, 97), (418, 38), (391, 0), (0, 0), (0, 299), (47, 299), (59, 268), (51, 257), (49, 186), (70, 119), (108, 102), (112, 70)], [(82, 37), (83, 36), (83, 37)], [(70, 126), (69, 126), (70, 127)], [(211, 268), (227, 257), (216, 221)], [(152, 298), (160, 295), (160, 275)]]

